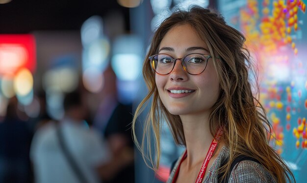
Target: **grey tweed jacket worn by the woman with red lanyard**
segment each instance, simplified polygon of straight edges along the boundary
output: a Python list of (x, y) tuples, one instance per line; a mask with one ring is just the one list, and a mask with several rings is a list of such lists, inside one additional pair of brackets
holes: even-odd
[[(179, 161), (184, 153), (178, 158), (167, 183), (172, 183)], [(229, 149), (226, 146), (221, 148), (218, 157), (214, 160), (203, 183), (218, 183), (218, 169), (223, 161), (229, 157)], [(195, 178), (196, 179), (196, 178)], [(274, 177), (259, 163), (252, 160), (243, 160), (237, 163), (229, 177), (228, 183), (276, 183)]]

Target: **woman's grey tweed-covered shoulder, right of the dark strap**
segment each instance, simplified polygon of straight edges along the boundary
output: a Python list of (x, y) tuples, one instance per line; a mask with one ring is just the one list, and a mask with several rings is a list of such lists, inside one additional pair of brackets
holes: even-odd
[(230, 173), (230, 183), (276, 183), (263, 165), (253, 160), (237, 163)]

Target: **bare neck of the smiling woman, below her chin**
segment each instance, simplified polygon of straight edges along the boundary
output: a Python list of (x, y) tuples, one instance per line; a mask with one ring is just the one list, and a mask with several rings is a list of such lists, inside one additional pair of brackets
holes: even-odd
[(187, 168), (203, 162), (213, 136), (210, 133), (208, 116), (180, 116), (183, 125)]

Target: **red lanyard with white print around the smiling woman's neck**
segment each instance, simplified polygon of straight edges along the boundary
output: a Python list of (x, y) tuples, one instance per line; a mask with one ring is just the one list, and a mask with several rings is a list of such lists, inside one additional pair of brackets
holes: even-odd
[[(215, 148), (217, 146), (217, 143), (220, 139), (220, 137), (222, 136), (222, 133), (223, 133), (223, 130), (222, 128), (220, 128), (217, 133), (215, 134), (215, 137), (213, 138), (212, 142), (211, 142), (211, 145), (210, 145), (210, 148), (207, 152), (207, 155), (205, 157), (205, 160), (204, 160), (204, 163), (201, 167), (201, 170), (199, 171), (199, 174), (197, 176), (197, 179), (195, 181), (195, 183), (202, 183), (203, 179), (204, 179), (204, 176), (205, 176), (205, 171), (207, 169), (207, 166), (208, 166), (208, 163), (215, 151)], [(176, 170), (176, 173), (175, 173), (175, 176), (174, 176), (174, 179), (173, 179), (173, 182), (172, 183), (175, 183), (176, 180), (177, 180), (177, 177), (178, 177), (178, 173), (179, 173), (179, 168), (180, 168), (180, 165), (182, 163), (182, 161), (187, 157), (187, 151), (185, 150), (185, 153), (183, 155), (183, 157), (181, 158), (180, 162), (179, 162), (179, 165), (178, 165), (178, 168)]]

